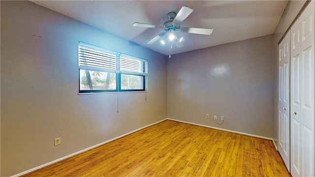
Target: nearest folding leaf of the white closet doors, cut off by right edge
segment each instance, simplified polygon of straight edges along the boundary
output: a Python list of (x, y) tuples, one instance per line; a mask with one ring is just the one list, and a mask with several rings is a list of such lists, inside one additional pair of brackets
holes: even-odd
[(302, 176), (314, 176), (314, 1), (301, 15), (302, 24)]

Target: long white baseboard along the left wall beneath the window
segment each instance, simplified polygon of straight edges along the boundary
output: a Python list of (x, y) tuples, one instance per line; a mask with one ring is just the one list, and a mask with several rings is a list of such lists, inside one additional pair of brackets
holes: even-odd
[(150, 125), (147, 125), (147, 126), (138, 128), (138, 129), (133, 130), (133, 131), (131, 131), (131, 132), (128, 132), (128, 133), (126, 133), (126, 134), (124, 134), (124, 135), (118, 136), (118, 137), (116, 137), (116, 138), (107, 140), (107, 141), (105, 141), (105, 142), (103, 142), (103, 143), (99, 143), (99, 144), (94, 145), (94, 146), (92, 146), (92, 147), (82, 149), (82, 150), (80, 150), (80, 151), (74, 152), (74, 153), (72, 153), (72, 154), (66, 155), (66, 156), (61, 157), (61, 158), (59, 158), (59, 159), (56, 159), (56, 160), (53, 160), (53, 161), (51, 161), (51, 162), (45, 163), (45, 164), (43, 164), (43, 165), (40, 165), (40, 166), (38, 166), (38, 167), (35, 167), (35, 168), (30, 169), (30, 170), (27, 170), (27, 171), (21, 172), (21, 173), (19, 173), (19, 174), (13, 175), (13, 176), (11, 176), (11, 177), (20, 177), (20, 176), (22, 176), (22, 175), (26, 175), (26, 174), (28, 174), (28, 173), (31, 173), (31, 172), (35, 171), (35, 170), (41, 169), (41, 168), (43, 168), (43, 167), (46, 167), (46, 166), (48, 166), (48, 165), (51, 165), (51, 164), (54, 164), (54, 163), (56, 163), (56, 162), (62, 161), (62, 160), (64, 160), (64, 159), (66, 159), (66, 158), (75, 156), (75, 155), (80, 154), (80, 153), (83, 153), (83, 152), (85, 152), (85, 151), (91, 150), (91, 149), (93, 149), (93, 148), (97, 148), (97, 147), (99, 147), (99, 146), (102, 146), (102, 145), (104, 145), (104, 144), (106, 144), (106, 143), (109, 143), (109, 142), (111, 142), (111, 141), (117, 140), (117, 139), (119, 139), (119, 138), (121, 138), (121, 137), (124, 137), (124, 136), (126, 136), (126, 135), (129, 135), (129, 134), (134, 133), (134, 132), (136, 132), (136, 131), (139, 131), (139, 130), (142, 130), (142, 129), (147, 128), (147, 127), (149, 127), (149, 126), (152, 126), (152, 125), (155, 125), (155, 124), (157, 124), (157, 123), (160, 123), (160, 122), (162, 122), (162, 121), (164, 121), (164, 120), (166, 120), (166, 118), (163, 119), (163, 120), (157, 121), (157, 122), (155, 122), (155, 123), (152, 123), (152, 124), (150, 124)]

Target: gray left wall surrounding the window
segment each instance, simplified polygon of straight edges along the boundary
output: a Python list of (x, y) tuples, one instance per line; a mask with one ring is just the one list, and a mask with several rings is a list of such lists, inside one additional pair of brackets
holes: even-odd
[[(1, 177), (166, 118), (166, 56), (29, 1), (0, 3)], [(121, 93), (117, 113), (116, 93), (78, 95), (79, 41), (148, 59), (148, 102)]]

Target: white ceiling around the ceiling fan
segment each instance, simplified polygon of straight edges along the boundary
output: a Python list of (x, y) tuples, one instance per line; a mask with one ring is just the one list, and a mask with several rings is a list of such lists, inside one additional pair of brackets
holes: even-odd
[(178, 54), (273, 34), (287, 0), (31, 0), (63, 15), (169, 55), (169, 46), (147, 42), (163, 29), (133, 27), (135, 22), (163, 26), (167, 13), (188, 6), (193, 12), (181, 27), (213, 28), (211, 35), (184, 33)]

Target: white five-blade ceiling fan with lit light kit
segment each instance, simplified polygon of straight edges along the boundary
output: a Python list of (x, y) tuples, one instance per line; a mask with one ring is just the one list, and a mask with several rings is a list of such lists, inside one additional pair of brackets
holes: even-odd
[[(161, 32), (160, 34), (158, 34), (156, 37), (151, 39), (147, 44), (153, 44), (157, 40), (164, 39), (165, 36), (168, 36), (167, 38), (170, 42), (170, 47), (172, 48), (173, 43), (175, 43), (176, 46), (180, 48), (180, 47), (183, 47), (183, 44), (181, 43), (183, 40), (183, 36), (180, 36), (175, 31), (183, 31), (183, 32), (189, 32), (189, 33), (195, 33), (195, 34), (206, 34), (206, 35), (210, 35), (213, 31), (213, 29), (181, 27), (181, 22), (183, 22), (192, 11), (193, 9), (183, 6), (177, 15), (175, 12), (169, 12), (167, 14), (167, 16), (169, 17), (169, 20), (164, 22), (163, 26), (151, 25), (151, 24), (145, 24), (145, 23), (134, 23), (133, 26), (164, 29), (165, 30), (164, 32)], [(161, 40), (161, 43), (165, 44), (165, 41)]]

